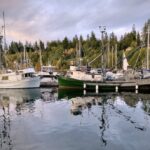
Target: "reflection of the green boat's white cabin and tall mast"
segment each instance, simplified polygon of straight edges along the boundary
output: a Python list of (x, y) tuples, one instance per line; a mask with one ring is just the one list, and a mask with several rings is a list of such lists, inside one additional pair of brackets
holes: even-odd
[[(105, 97), (76, 97), (70, 100), (72, 104), (70, 111), (73, 115), (82, 115), (82, 111), (87, 108), (88, 112), (100, 122), (100, 138), (104, 146), (106, 146), (107, 139), (105, 138), (105, 131), (109, 127), (106, 111), (107, 99)], [(97, 105), (101, 108), (100, 116), (92, 111), (92, 105)]]

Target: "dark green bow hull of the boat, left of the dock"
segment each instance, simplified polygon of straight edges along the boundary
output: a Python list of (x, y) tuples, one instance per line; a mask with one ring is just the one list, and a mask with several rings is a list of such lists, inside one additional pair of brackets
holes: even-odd
[(73, 79), (70, 77), (59, 76), (58, 77), (59, 88), (77, 88), (83, 89), (83, 81)]

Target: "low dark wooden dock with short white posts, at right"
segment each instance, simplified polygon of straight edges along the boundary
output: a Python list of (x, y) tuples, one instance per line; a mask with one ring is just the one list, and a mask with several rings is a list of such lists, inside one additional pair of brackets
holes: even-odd
[(100, 92), (146, 92), (150, 90), (149, 79), (137, 79), (130, 81), (105, 81), (105, 82), (84, 82), (84, 93), (90, 91)]

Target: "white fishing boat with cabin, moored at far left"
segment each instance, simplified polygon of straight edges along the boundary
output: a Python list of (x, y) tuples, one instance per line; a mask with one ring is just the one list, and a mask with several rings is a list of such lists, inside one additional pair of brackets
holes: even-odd
[[(40, 77), (36, 75), (33, 67), (21, 70), (7, 69), (2, 65), (4, 50), (2, 48), (3, 35), (0, 35), (0, 89), (20, 89), (40, 87)], [(24, 49), (25, 53), (25, 49)], [(24, 58), (25, 59), (25, 58)]]

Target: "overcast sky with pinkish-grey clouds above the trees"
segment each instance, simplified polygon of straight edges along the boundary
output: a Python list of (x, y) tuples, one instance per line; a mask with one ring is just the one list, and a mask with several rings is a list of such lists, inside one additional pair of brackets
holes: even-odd
[(91, 31), (100, 37), (100, 25), (118, 36), (133, 24), (141, 31), (150, 18), (150, 0), (0, 0), (0, 26), (3, 11), (7, 41), (46, 42)]

